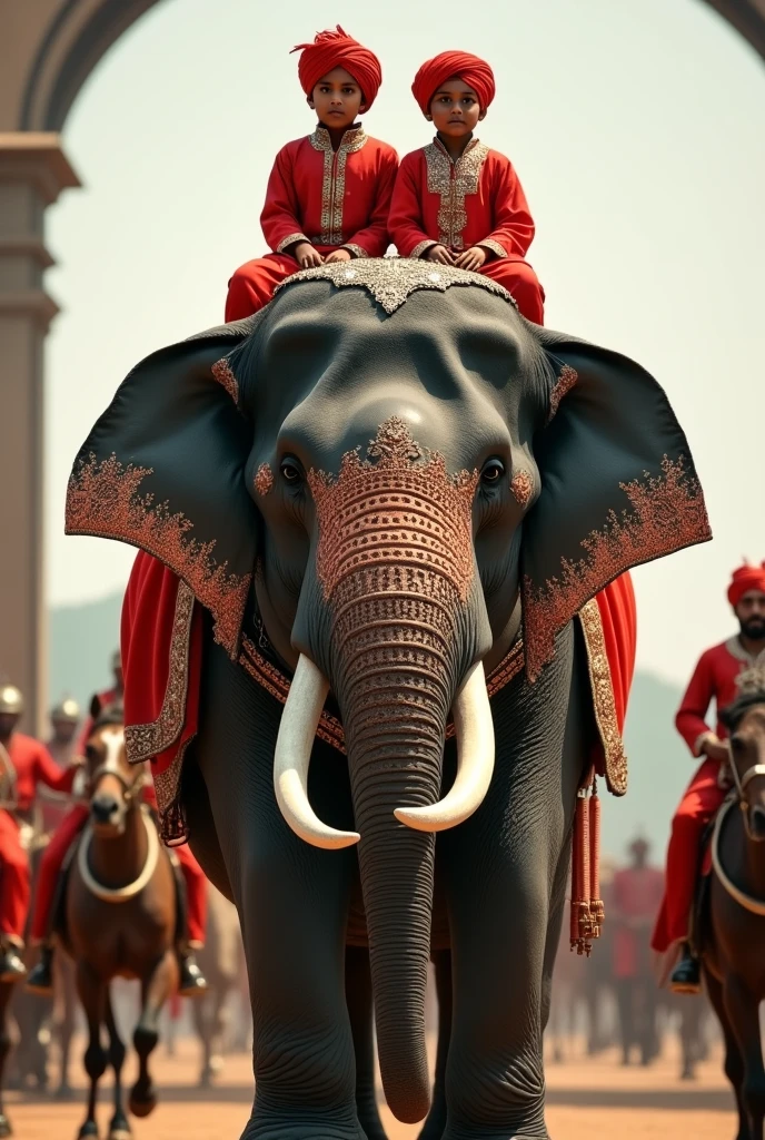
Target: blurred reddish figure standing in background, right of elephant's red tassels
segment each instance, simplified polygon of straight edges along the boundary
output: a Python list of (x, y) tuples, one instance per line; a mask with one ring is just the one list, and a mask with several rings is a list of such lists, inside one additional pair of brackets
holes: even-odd
[(650, 935), (661, 903), (664, 874), (648, 862), (649, 850), (645, 839), (634, 839), (628, 847), (632, 862), (616, 872), (612, 883), (614, 982), (623, 1065), (630, 1064), (633, 1045), (640, 1048), (642, 1065), (658, 1053), (658, 995), (650, 967)]

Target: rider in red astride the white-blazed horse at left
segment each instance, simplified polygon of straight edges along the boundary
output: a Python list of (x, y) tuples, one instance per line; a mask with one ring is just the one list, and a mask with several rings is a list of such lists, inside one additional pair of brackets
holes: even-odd
[[(122, 669), (122, 657), (120, 650), (115, 650), (112, 658), (114, 671), (114, 685), (98, 693), (98, 701), (101, 708), (122, 701), (124, 697), (124, 677)], [(88, 741), (92, 733), (93, 720), (88, 717), (84, 730), (80, 738), (79, 752), (84, 756)], [(148, 784), (142, 790), (145, 804), (156, 813), (157, 799), (154, 787)], [(38, 872), (38, 889), (32, 912), (32, 942), (41, 946), (40, 961), (30, 974), (26, 988), (31, 993), (42, 996), (51, 996), (54, 992), (54, 936), (52, 936), (52, 909), (56, 897), (57, 883), (61, 874), (61, 868), (67, 852), (77, 839), (90, 815), (87, 804), (76, 804), (64, 816), (58, 825), (52, 839), (46, 847), (40, 861)], [(178, 861), (186, 883), (186, 921), (187, 937), (179, 940), (179, 964), (180, 984), (179, 993), (186, 997), (194, 997), (203, 993), (207, 983), (195, 959), (195, 950), (201, 948), (205, 944), (205, 927), (207, 922), (207, 882), (204, 871), (195, 858), (190, 847), (178, 850)]]

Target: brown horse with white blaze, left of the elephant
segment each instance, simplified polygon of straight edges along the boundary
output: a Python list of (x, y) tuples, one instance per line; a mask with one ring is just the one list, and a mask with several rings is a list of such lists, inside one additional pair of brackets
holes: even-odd
[(122, 707), (101, 709), (96, 700), (91, 715), (94, 724), (85, 752), (90, 820), (68, 872), (60, 935), (75, 962), (90, 1036), (84, 1058), (90, 1098), (79, 1134), (98, 1135), (96, 1097), (107, 1066), (100, 1040), (106, 1024), (115, 1078), (109, 1140), (126, 1140), (131, 1130), (121, 1084), (125, 1047), (115, 1024), (109, 982), (123, 977), (141, 983), (141, 1015), (133, 1033), (139, 1075), (130, 1110), (148, 1116), (156, 1105), (148, 1058), (158, 1040), (162, 1007), (178, 986), (175, 880), (155, 823), (141, 804), (146, 772), (128, 763)]

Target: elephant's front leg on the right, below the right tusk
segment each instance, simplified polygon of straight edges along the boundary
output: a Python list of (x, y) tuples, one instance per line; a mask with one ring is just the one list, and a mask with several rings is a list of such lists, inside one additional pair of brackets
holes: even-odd
[(546, 1137), (543, 1019), (564, 846), (592, 741), (574, 630), (529, 686), (495, 702), (492, 787), (438, 837), (452, 934), (453, 1031), (444, 1140)]

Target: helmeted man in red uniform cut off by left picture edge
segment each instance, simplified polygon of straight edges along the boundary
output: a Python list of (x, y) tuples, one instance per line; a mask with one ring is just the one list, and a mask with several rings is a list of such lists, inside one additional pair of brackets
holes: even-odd
[(16, 732), (23, 711), (18, 689), (0, 687), (0, 982), (26, 977), (19, 951), (30, 909), (30, 863), (20, 844), (20, 819), (31, 812), (39, 783), (71, 791), (79, 771), (77, 764), (59, 768), (40, 741)]

